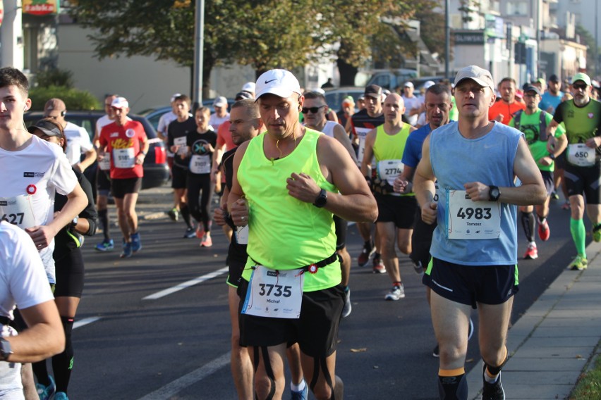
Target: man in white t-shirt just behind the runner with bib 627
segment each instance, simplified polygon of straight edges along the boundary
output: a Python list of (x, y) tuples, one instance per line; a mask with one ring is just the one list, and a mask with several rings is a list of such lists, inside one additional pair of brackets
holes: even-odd
[[(96, 161), (96, 150), (90, 141), (90, 135), (83, 127), (69, 123), (65, 120), (67, 108), (61, 99), (50, 99), (44, 106), (44, 117), (52, 118), (63, 127), (67, 139), (65, 151), (67, 159), (73, 168), (83, 173), (85, 168)], [(83, 160), (81, 155), (85, 154)]]

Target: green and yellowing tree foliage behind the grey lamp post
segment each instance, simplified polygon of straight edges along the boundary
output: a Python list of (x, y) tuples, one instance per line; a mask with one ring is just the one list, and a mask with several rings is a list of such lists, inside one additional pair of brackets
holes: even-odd
[[(190, 0), (72, 0), (69, 13), (92, 27), (96, 55), (154, 56), (193, 66), (194, 6)], [(257, 75), (269, 68), (296, 68), (320, 56), (353, 68), (372, 57), (393, 58), (413, 44), (399, 38), (382, 18), (410, 18), (418, 7), (394, 0), (213, 0), (205, 2), (203, 82), (212, 68), (238, 62)], [(336, 45), (339, 43), (339, 45)], [(354, 74), (353, 74), (354, 78)]]

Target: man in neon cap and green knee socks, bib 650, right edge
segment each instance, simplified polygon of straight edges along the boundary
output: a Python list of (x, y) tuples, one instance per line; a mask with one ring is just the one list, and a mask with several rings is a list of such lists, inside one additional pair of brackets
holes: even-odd
[(557, 147), (554, 137), (560, 123), (566, 127), (568, 149), (564, 177), (568, 189), (571, 219), (570, 230), (578, 252), (570, 264), (572, 270), (583, 270), (588, 261), (585, 251), (584, 198), (586, 213), (593, 223), (593, 240), (601, 242), (601, 103), (590, 97), (590, 77), (577, 73), (572, 79), (574, 98), (557, 106), (553, 120), (547, 127), (550, 151)]

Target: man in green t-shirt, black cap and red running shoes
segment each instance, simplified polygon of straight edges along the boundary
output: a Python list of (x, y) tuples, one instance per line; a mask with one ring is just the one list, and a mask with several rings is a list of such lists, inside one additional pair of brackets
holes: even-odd
[[(545, 188), (547, 189), (547, 199), (545, 203), (536, 206), (536, 215), (538, 216), (538, 236), (545, 242), (549, 240), (551, 231), (549, 229), (549, 223), (547, 223), (547, 215), (549, 215), (549, 201), (551, 199), (551, 193), (554, 189), (553, 184), (553, 170), (555, 167), (555, 157), (559, 156), (560, 152), (554, 150), (552, 152), (547, 150), (547, 126), (550, 125), (552, 115), (538, 108), (540, 103), (540, 91), (538, 87), (529, 86), (524, 90), (524, 100), (526, 101), (526, 109), (518, 111), (514, 118), (509, 121), (509, 126), (515, 127), (523, 132), (530, 148), (530, 153), (536, 161), (536, 165), (542, 175), (542, 180), (545, 182)], [(560, 142), (566, 141), (566, 134), (563, 127), (558, 126), (555, 130), (554, 135)], [(520, 206), (520, 215), (522, 220), (522, 226), (526, 239), (528, 239), (528, 248), (525, 259), (538, 258), (538, 249), (536, 248), (536, 242), (534, 241), (534, 228), (536, 221), (534, 218), (535, 206)]]

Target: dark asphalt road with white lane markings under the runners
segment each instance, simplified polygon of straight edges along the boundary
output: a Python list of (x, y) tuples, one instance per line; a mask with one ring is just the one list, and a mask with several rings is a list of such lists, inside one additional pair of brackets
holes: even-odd
[[(229, 370), (224, 235), (215, 229), (210, 249), (200, 248), (198, 239), (182, 239), (183, 223), (164, 215), (170, 204), (170, 189), (142, 192), (143, 249), (132, 258), (121, 260), (117, 250), (95, 251), (101, 234), (85, 243), (71, 399), (236, 399)], [(569, 211), (560, 204), (552, 202), (551, 239), (539, 241), (538, 260), (519, 264), (513, 322), (575, 255)], [(526, 239), (518, 228), (523, 254)], [(116, 227), (113, 233), (120, 241)], [(437, 399), (435, 339), (420, 277), (401, 256), (406, 298), (384, 301), (389, 277), (357, 266), (361, 244), (356, 227), (349, 227), (353, 312), (341, 323), (336, 365), (345, 398)], [(476, 312), (473, 320), (477, 325)], [(479, 365), (477, 337), (476, 327), (468, 370)]]

